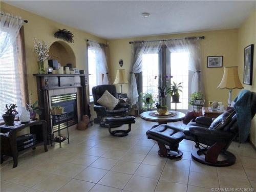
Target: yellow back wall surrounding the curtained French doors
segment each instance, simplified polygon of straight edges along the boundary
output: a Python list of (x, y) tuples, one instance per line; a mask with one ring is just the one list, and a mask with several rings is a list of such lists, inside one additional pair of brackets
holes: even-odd
[[(131, 45), (129, 44), (129, 41), (167, 39), (186, 36), (205, 36), (205, 39), (200, 40), (200, 43), (206, 103), (208, 103), (208, 100), (217, 100), (223, 101), (226, 105), (228, 99), (228, 90), (217, 89), (217, 86), (221, 81), (224, 68), (207, 68), (207, 56), (222, 55), (223, 66), (237, 66), (237, 29), (110, 40), (109, 66), (112, 79), (115, 78), (116, 70), (120, 69), (118, 63), (119, 59), (123, 59), (122, 69), (125, 69), (127, 77), (130, 76)], [(240, 76), (240, 79), (242, 79), (242, 76)], [(123, 92), (127, 92), (127, 88), (127, 84), (124, 84)], [(117, 85), (117, 90), (119, 90), (119, 85)], [(236, 96), (236, 93), (237, 92), (234, 91), (233, 97)]]

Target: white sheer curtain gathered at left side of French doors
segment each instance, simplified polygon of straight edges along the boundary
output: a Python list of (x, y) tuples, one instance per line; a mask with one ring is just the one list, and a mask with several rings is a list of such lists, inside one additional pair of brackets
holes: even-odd
[(161, 48), (161, 45), (162, 41), (135, 42), (134, 44), (132, 44), (131, 80), (129, 81), (130, 89), (128, 92), (130, 102), (132, 105), (135, 105), (139, 100), (135, 73), (142, 72), (143, 55), (158, 53)]

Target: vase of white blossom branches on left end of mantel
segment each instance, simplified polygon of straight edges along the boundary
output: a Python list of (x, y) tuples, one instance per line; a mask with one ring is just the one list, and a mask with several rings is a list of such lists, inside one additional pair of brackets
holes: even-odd
[(49, 58), (49, 44), (46, 41), (40, 41), (35, 38), (34, 51), (37, 53), (38, 73), (46, 73), (45, 61)]

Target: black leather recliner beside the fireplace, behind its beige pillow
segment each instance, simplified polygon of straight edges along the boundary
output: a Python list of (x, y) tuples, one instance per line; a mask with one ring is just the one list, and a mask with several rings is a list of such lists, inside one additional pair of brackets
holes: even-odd
[(100, 105), (97, 100), (103, 95), (103, 93), (108, 90), (111, 95), (117, 98), (116, 87), (111, 84), (103, 84), (101, 86), (96, 86), (92, 88), (93, 100), (94, 100), (94, 111), (97, 114), (97, 118), (94, 119), (95, 123), (100, 123), (101, 126), (107, 127), (105, 125), (104, 117), (115, 117), (115, 116), (126, 116), (131, 107), (127, 103), (118, 103), (114, 110), (108, 110), (105, 106)]

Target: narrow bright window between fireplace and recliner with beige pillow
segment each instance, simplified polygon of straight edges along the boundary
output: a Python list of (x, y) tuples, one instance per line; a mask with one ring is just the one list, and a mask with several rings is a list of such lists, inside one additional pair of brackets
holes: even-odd
[(102, 77), (101, 77), (102, 75), (98, 72), (96, 67), (96, 62), (97, 62), (96, 57), (97, 57), (96, 51), (88, 47), (88, 72), (89, 74), (91, 74), (89, 75), (90, 102), (93, 101), (92, 88), (101, 84), (101, 81), (102, 81)]

